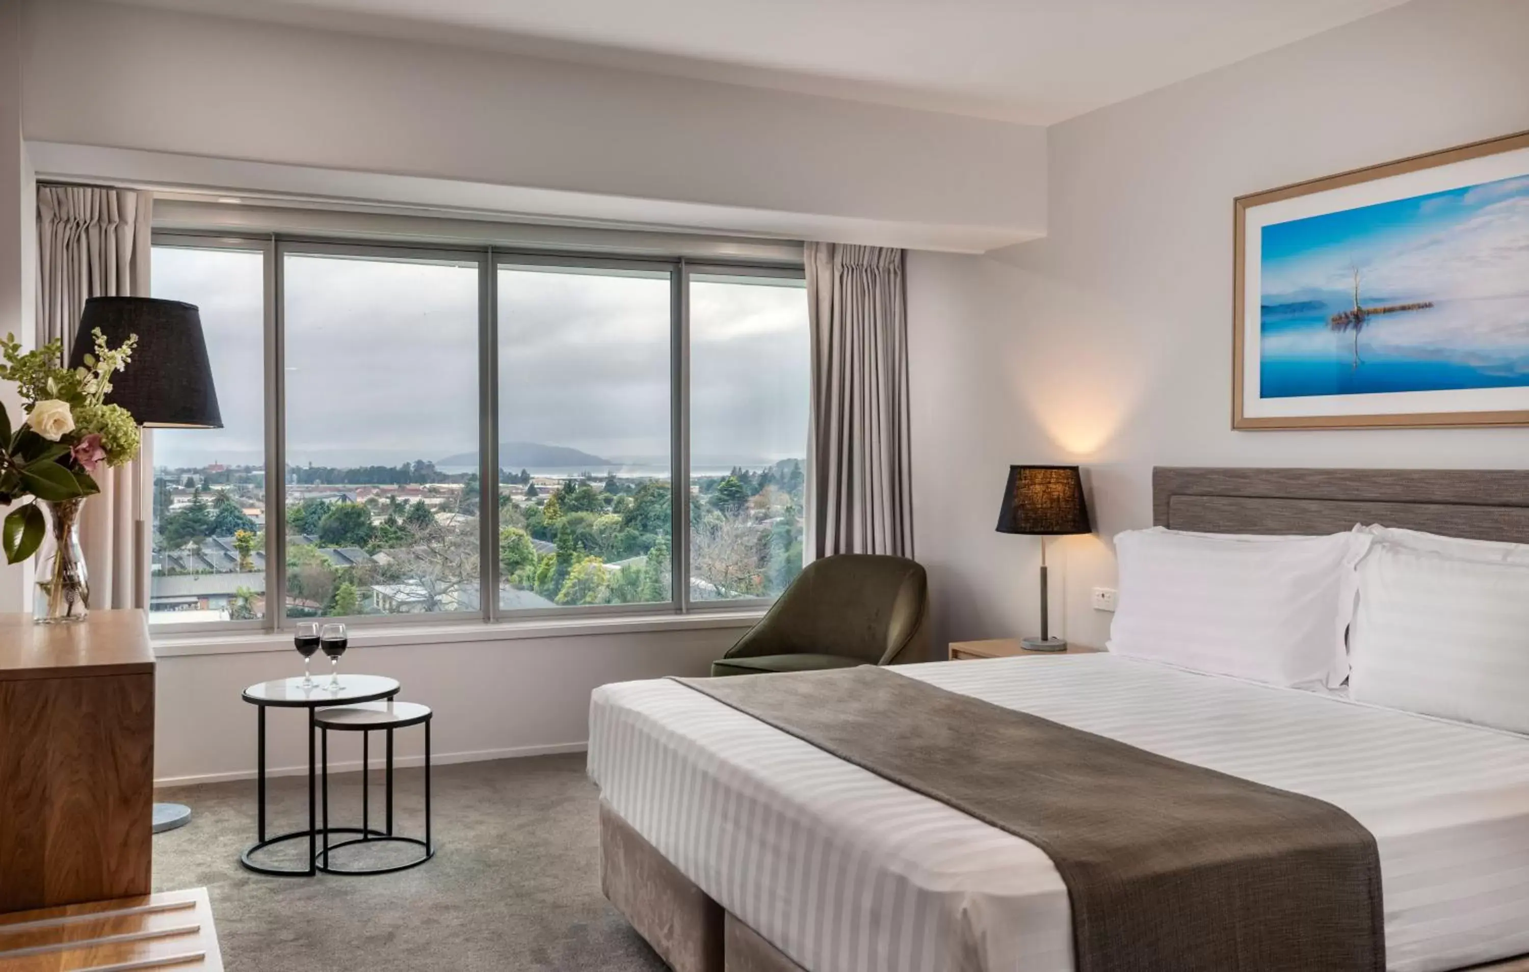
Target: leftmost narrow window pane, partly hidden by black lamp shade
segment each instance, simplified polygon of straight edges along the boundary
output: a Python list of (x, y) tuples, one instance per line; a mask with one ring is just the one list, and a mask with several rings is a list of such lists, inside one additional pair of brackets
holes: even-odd
[[(154, 246), (153, 295), (202, 309), (220, 429), (153, 433), (153, 624), (266, 614), (265, 254)], [(131, 365), (128, 365), (131, 367)]]

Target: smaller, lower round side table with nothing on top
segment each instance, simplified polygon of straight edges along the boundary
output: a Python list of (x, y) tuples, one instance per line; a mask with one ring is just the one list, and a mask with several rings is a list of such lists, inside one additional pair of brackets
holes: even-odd
[[(431, 711), (417, 701), (370, 701), (333, 709), (320, 709), (313, 717), (321, 740), (320, 764), (323, 766), (323, 804), (324, 804), (324, 847), (318, 851), (317, 867), (326, 874), (391, 874), (419, 867), (436, 856), (436, 845), (430, 839), (430, 718)], [(425, 839), (401, 838), (393, 833), (393, 731), (408, 726), (425, 726)], [(329, 825), (329, 734), (359, 732), (361, 734), (361, 827), (330, 827)], [(387, 828), (379, 836), (372, 830), (370, 819), (370, 787), (367, 786), (370, 764), (370, 738), (373, 731), (387, 732)], [(358, 838), (329, 842), (330, 833), (359, 833)], [(356, 844), (413, 844), (422, 847), (424, 853), (407, 863), (394, 863), (382, 868), (344, 868), (335, 867), (329, 853), (341, 847)]]

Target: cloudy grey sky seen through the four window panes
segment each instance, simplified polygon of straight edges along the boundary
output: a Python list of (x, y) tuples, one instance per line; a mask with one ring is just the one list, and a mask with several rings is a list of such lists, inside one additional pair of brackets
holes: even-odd
[[(258, 254), (156, 248), (154, 295), (202, 307), (225, 428), (156, 433), (154, 462), (263, 455)], [(286, 258), (287, 458), (439, 460), (477, 448), (472, 266)], [(664, 465), (670, 448), (665, 275), (502, 267), (500, 439)], [(691, 289), (694, 465), (804, 454), (807, 304), (795, 286)]]

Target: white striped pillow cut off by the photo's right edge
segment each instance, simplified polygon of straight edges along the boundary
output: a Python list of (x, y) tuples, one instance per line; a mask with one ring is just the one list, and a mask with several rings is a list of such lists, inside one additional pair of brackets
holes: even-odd
[(1349, 648), (1356, 701), (1529, 732), (1529, 565), (1376, 544)]

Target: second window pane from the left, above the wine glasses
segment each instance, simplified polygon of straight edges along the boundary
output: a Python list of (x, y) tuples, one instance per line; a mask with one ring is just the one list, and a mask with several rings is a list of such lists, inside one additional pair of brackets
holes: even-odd
[(477, 611), (477, 261), (281, 261), (286, 616)]

